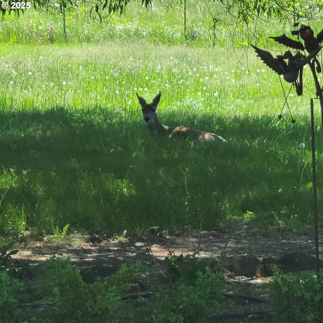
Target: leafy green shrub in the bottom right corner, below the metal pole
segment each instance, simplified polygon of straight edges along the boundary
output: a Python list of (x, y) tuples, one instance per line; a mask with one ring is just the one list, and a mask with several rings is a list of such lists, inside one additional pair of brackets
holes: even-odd
[(323, 317), (323, 272), (299, 275), (277, 271), (271, 286), (271, 309), (277, 322), (316, 323)]

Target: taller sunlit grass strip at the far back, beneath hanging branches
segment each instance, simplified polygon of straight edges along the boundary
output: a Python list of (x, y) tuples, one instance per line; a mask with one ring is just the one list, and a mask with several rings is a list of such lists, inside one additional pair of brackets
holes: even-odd
[[(184, 33), (184, 9), (177, 4), (172, 7), (154, 3), (152, 10), (145, 10), (140, 2), (132, 2), (125, 14), (104, 16), (102, 22), (90, 17), (91, 5), (78, 4), (78, 8), (66, 11), (67, 39), (64, 36), (63, 16), (59, 8), (45, 12), (26, 10), (19, 19), (15, 14), (2, 18), (0, 39), (10, 44), (43, 43), (103, 43), (106, 41), (135, 42), (148, 41), (154, 44), (195, 46), (248, 45), (260, 40), (267, 43), (266, 35), (290, 34), (289, 25), (277, 21), (259, 20), (248, 26), (239, 23), (236, 16), (228, 15), (218, 2), (187, 1), (187, 30)], [(212, 18), (216, 17), (217, 23)], [(308, 23), (308, 21), (304, 21)], [(317, 21), (312, 27), (319, 28)], [(319, 29), (318, 29), (319, 30)]]

